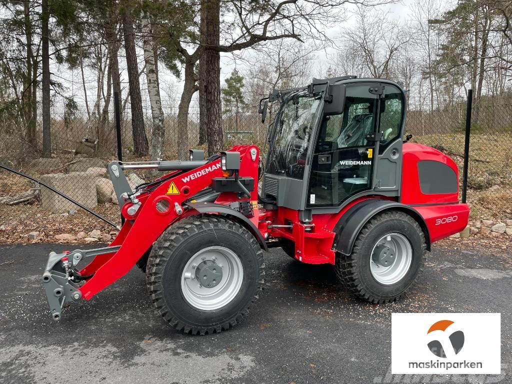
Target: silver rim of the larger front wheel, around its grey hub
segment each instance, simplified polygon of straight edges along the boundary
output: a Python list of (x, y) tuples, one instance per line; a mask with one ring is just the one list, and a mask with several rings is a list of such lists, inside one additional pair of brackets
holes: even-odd
[[(203, 286), (196, 278), (198, 266), (210, 261), (221, 268), (222, 278), (215, 287)], [(226, 247), (208, 247), (197, 252), (181, 273), (181, 292), (186, 302), (197, 309), (216, 310), (231, 302), (242, 287), (244, 269), (240, 258)]]

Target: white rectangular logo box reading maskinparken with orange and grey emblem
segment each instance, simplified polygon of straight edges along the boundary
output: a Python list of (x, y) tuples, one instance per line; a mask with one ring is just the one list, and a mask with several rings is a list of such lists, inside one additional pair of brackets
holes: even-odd
[(391, 372), (500, 374), (501, 314), (392, 313)]

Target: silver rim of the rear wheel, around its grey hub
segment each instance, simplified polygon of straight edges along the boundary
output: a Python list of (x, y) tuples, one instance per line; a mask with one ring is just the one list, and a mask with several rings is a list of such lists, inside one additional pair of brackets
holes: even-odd
[[(389, 247), (392, 260), (389, 266), (379, 265), (374, 260), (374, 252), (379, 245)], [(411, 243), (401, 233), (388, 233), (382, 236), (373, 246), (370, 254), (370, 271), (373, 278), (380, 284), (392, 285), (398, 283), (407, 274), (413, 260)]]

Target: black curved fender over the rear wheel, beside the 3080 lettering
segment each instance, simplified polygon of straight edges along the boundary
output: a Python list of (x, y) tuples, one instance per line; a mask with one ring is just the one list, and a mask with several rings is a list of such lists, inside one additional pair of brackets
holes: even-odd
[(332, 249), (340, 253), (350, 255), (352, 253), (352, 247), (354, 246), (355, 239), (362, 227), (364, 227), (365, 224), (379, 212), (392, 208), (406, 212), (418, 222), (425, 234), (426, 249), (430, 251), (429, 229), (419, 212), (409, 205), (382, 199), (364, 200), (351, 207), (345, 215), (338, 220), (333, 228), (333, 232), (336, 233), (336, 236), (334, 237)]

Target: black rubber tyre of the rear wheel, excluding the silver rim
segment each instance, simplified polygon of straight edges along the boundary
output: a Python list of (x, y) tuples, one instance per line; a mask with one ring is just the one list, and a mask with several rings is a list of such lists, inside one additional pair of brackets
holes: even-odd
[[(409, 240), (412, 261), (407, 273), (395, 284), (377, 282), (370, 271), (370, 258), (377, 241), (388, 233), (397, 232)], [(418, 280), (424, 265), (425, 235), (411, 216), (398, 210), (376, 215), (361, 229), (350, 256), (336, 255), (335, 271), (348, 290), (374, 304), (398, 300)]]

